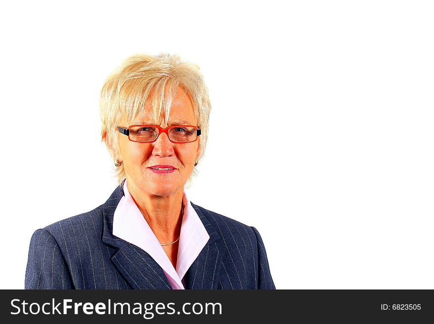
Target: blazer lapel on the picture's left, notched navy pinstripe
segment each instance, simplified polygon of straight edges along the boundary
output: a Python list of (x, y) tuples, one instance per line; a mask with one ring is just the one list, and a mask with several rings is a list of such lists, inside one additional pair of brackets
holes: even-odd
[(111, 194), (103, 205), (103, 239), (114, 253), (111, 262), (123, 279), (134, 289), (172, 289), (163, 269), (139, 247), (126, 242), (113, 233), (114, 211), (123, 196), (123, 183)]

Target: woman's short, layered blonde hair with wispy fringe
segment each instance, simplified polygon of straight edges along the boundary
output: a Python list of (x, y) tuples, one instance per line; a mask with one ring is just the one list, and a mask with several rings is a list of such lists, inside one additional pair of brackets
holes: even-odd
[[(193, 100), (197, 126), (201, 129), (198, 160), (203, 157), (208, 138), (211, 103), (199, 67), (181, 61), (178, 55), (137, 54), (127, 58), (111, 73), (101, 90), (101, 137), (102, 141), (106, 142), (113, 160), (118, 145), (116, 127), (119, 126), (119, 120), (123, 117), (130, 123), (144, 111), (146, 101), (151, 100), (154, 122), (164, 111), (167, 123), (172, 101), (179, 86), (188, 92)], [(188, 185), (191, 178), (196, 175), (197, 171), (193, 168), (187, 181)], [(125, 179), (123, 165), (116, 168), (116, 176), (119, 183)]]

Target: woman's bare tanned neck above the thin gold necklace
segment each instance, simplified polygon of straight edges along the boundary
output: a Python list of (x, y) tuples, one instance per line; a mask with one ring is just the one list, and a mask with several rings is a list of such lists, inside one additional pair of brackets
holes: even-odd
[(183, 188), (167, 196), (149, 194), (128, 181), (128, 191), (160, 243), (181, 234)]

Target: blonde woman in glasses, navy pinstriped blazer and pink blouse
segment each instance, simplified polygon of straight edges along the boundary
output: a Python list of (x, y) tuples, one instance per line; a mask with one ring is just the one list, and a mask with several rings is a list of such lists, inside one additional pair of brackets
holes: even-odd
[(257, 230), (183, 190), (210, 109), (198, 67), (177, 56), (132, 56), (112, 73), (100, 112), (119, 186), (93, 211), (34, 233), (25, 287), (274, 289)]

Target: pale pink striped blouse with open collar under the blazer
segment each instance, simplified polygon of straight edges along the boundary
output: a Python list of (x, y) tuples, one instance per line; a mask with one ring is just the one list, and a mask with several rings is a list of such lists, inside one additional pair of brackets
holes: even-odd
[(173, 289), (185, 289), (182, 279), (210, 238), (205, 226), (191, 206), (185, 190), (182, 206), (184, 206), (184, 216), (181, 223), (176, 269), (131, 197), (126, 180), (124, 196), (119, 201), (113, 216), (113, 235), (147, 252), (163, 269)]

